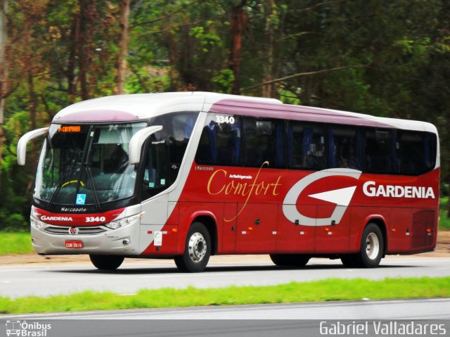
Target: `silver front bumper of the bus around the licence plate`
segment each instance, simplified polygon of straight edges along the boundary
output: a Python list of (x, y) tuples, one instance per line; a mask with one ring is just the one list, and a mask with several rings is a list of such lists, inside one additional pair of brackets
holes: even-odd
[[(41, 255), (139, 255), (139, 222), (118, 229), (104, 229), (98, 234), (69, 234), (70, 227), (60, 226), (59, 234), (51, 233), (56, 226), (37, 229), (31, 226), (32, 246)], [(88, 229), (89, 227), (79, 227)], [(63, 234), (63, 233), (67, 234)], [(83, 248), (66, 248), (65, 241), (82, 241)]]

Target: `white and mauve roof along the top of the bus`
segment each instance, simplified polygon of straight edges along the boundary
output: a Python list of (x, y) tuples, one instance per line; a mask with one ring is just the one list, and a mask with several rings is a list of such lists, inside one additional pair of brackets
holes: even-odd
[(215, 113), (389, 127), (437, 133), (436, 127), (427, 122), (375, 117), (326, 108), (293, 106), (283, 104), (274, 98), (236, 96), (202, 91), (129, 94), (89, 99), (63, 108), (53, 118), (53, 122), (126, 122), (183, 110), (202, 110)]

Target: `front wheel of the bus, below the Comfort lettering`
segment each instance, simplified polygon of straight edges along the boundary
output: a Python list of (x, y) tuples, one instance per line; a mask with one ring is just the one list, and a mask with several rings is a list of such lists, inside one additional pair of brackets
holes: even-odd
[(205, 225), (193, 222), (186, 236), (183, 255), (177, 255), (175, 265), (180, 272), (198, 273), (205, 270), (211, 255), (211, 236)]

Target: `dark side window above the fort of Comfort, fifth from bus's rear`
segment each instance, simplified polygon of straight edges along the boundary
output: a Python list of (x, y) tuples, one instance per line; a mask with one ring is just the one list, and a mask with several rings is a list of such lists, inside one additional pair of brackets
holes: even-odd
[(285, 167), (283, 120), (244, 117), (244, 132), (246, 166)]

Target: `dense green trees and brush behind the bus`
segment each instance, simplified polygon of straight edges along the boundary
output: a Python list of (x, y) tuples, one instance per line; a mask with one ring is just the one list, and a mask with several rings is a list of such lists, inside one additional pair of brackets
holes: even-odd
[(0, 229), (27, 227), (39, 144), (18, 167), (19, 136), (110, 94), (219, 91), (427, 120), (449, 182), (449, 13), (446, 0), (0, 0)]

